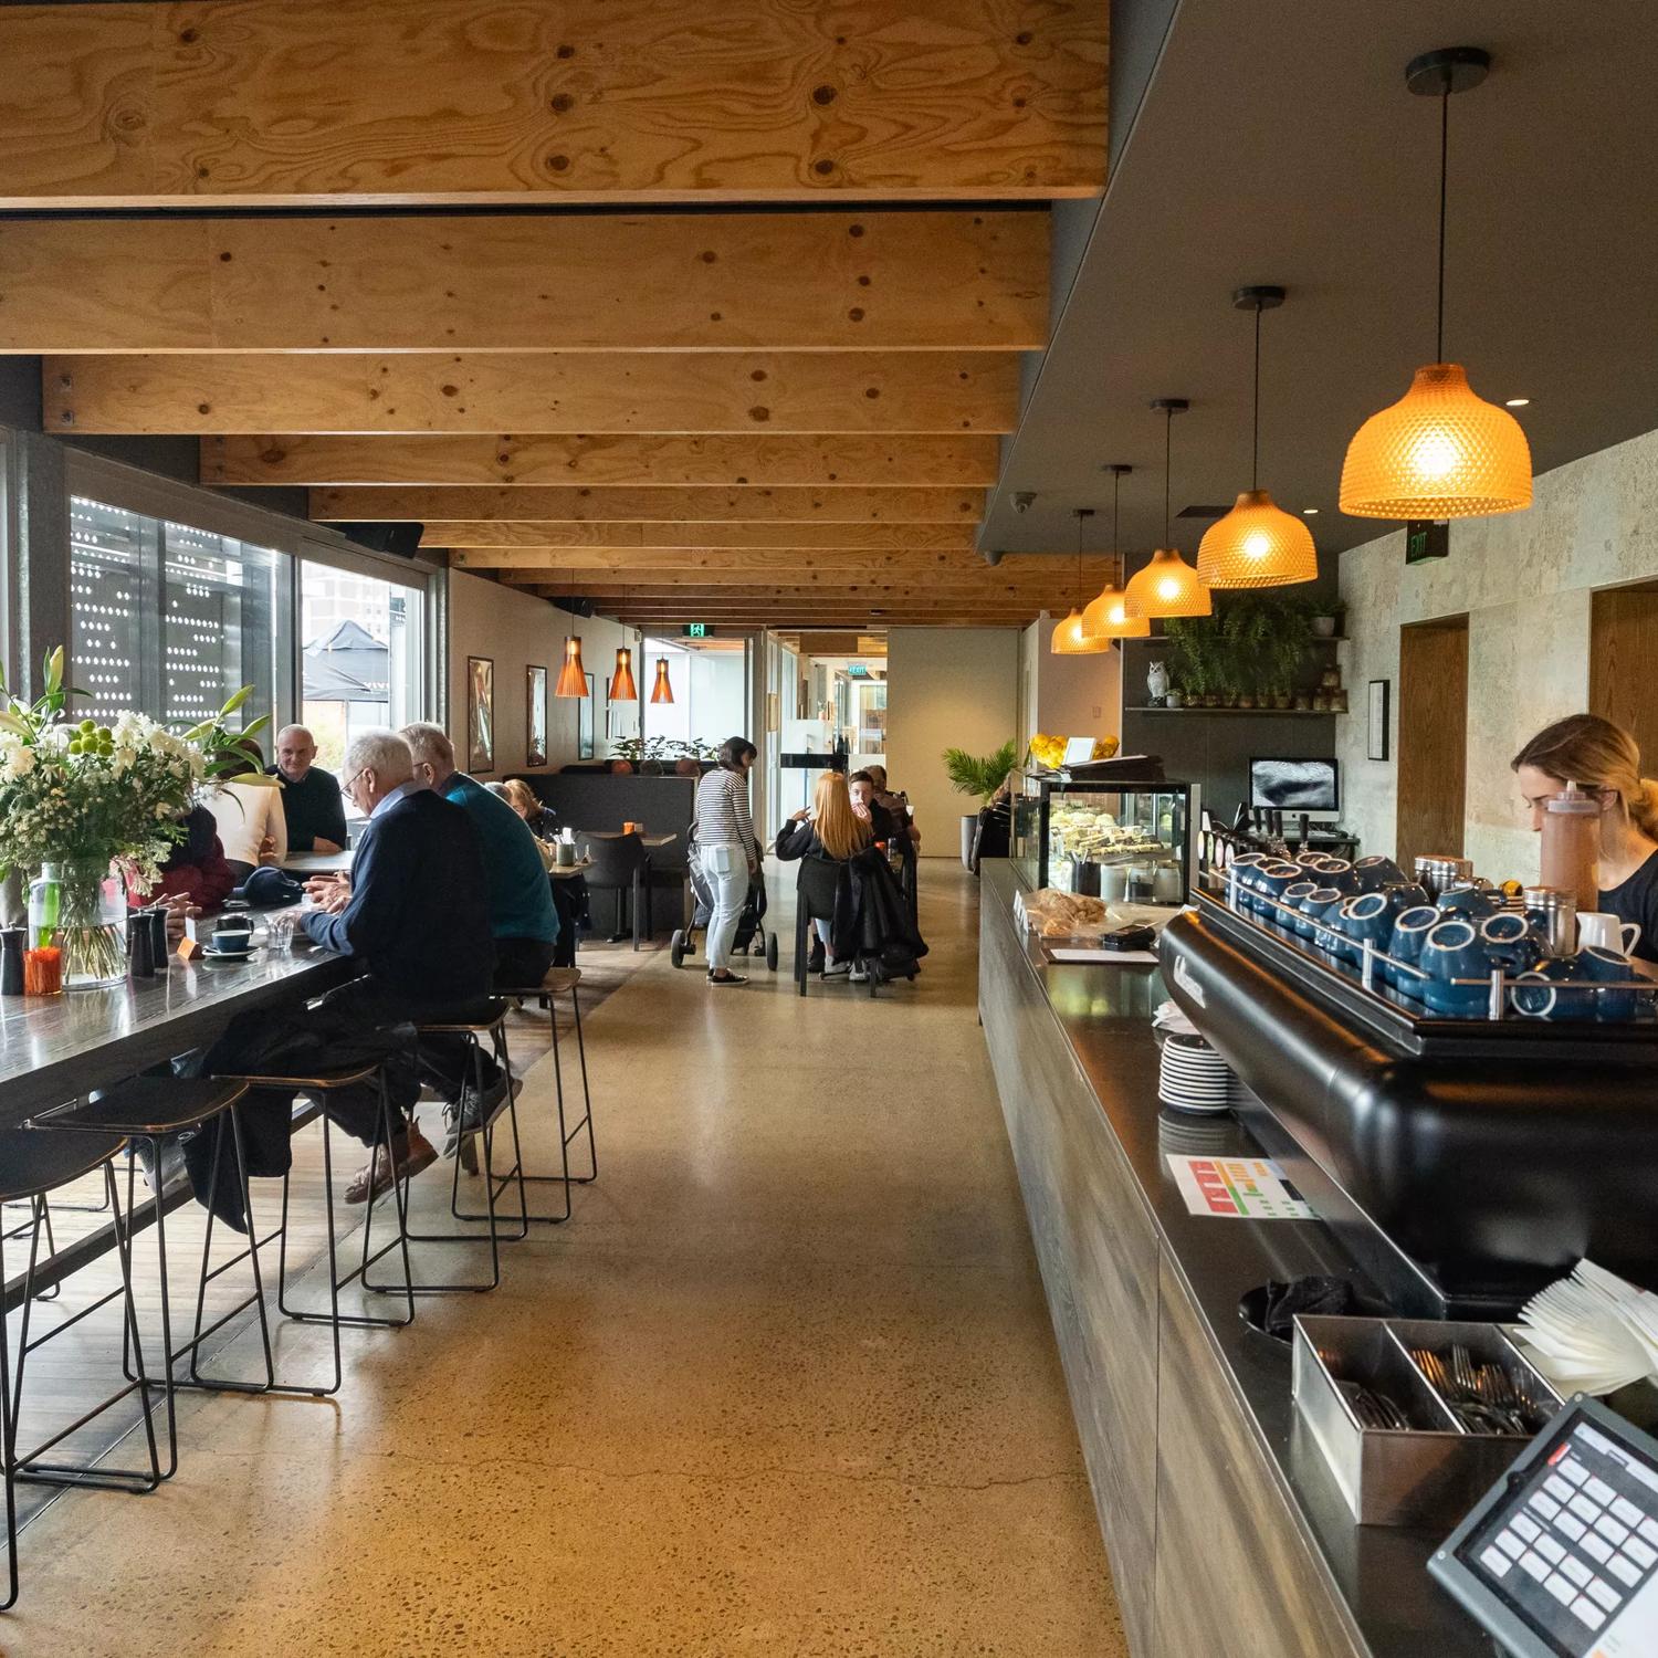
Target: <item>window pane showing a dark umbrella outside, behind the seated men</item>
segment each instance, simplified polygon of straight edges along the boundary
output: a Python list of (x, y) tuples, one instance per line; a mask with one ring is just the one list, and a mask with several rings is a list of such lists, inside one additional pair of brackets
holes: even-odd
[(424, 602), (418, 587), (300, 567), (300, 718), (318, 764), (338, 773), (358, 731), (423, 716)]

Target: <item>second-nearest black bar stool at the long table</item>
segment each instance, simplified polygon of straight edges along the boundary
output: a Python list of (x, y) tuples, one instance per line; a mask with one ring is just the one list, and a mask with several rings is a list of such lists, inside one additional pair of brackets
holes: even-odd
[[(172, 1341), (172, 1288), (167, 1275), (167, 1204), (166, 1194), (159, 1189), (154, 1194), (156, 1214), (156, 1260), (161, 1272), (161, 1376), (151, 1386), (159, 1386), (167, 1411), (167, 1467), (162, 1479), (171, 1479), (179, 1467), (179, 1424), (176, 1391), (179, 1388), (204, 1388), (216, 1393), (285, 1393), (277, 1386), (275, 1361), (270, 1351), (270, 1320), (265, 1313), (265, 1283), (259, 1270), (259, 1245), (254, 1232), (254, 1204), (247, 1189), (247, 1146), (242, 1136), (242, 1113), (239, 1109), (242, 1096), (247, 1093), (245, 1083), (225, 1078), (186, 1078), (186, 1076), (134, 1076), (114, 1088), (106, 1088), (93, 1094), (85, 1104), (75, 1101), (66, 1106), (53, 1106), (32, 1119), (32, 1129), (50, 1129), (53, 1132), (75, 1131), (83, 1134), (121, 1134), (129, 1141), (148, 1141), (151, 1149), (151, 1167), (161, 1169), (162, 1141), (186, 1129), (202, 1131), (212, 1124), (212, 1179), (217, 1190), (224, 1171), (225, 1124), (230, 1124), (230, 1144), (235, 1151), (235, 1190), (242, 1205), (242, 1219), (247, 1224), (249, 1247), (239, 1250), (227, 1262), (212, 1267), (212, 1232), (214, 1210), (207, 1210), (207, 1230), (202, 1239), (202, 1267), (196, 1283), (196, 1323), (191, 1340), (174, 1346)], [(126, 1215), (131, 1227), (136, 1212), (136, 1159), (126, 1169)], [(159, 1176), (158, 1176), (159, 1179)], [(249, 1262), (254, 1275), (254, 1293), (237, 1302), (227, 1313), (202, 1328), (207, 1310), (207, 1285), (222, 1277), (242, 1262)], [(229, 1378), (204, 1376), (201, 1371), (201, 1346), (217, 1335), (232, 1318), (240, 1316), (249, 1307), (259, 1308), (259, 1336), (265, 1355), (264, 1381), (232, 1381)], [(124, 1355), (124, 1343), (123, 1343)], [(179, 1381), (174, 1368), (181, 1358), (189, 1355), (189, 1381)], [(126, 1368), (123, 1360), (123, 1368)], [(133, 1371), (126, 1368), (131, 1378)], [(308, 1391), (308, 1389), (298, 1389)]]

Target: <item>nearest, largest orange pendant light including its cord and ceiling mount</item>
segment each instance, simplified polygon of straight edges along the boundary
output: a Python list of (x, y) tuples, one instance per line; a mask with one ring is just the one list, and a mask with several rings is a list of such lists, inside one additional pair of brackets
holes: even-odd
[(1434, 361), (1416, 370), (1411, 390), (1371, 414), (1348, 444), (1341, 466), (1341, 511), (1353, 517), (1451, 519), (1519, 512), (1532, 504), (1532, 451), (1520, 423), (1474, 395), (1461, 363), (1444, 361), (1446, 164), (1451, 95), (1477, 86), (1491, 56), (1451, 46), (1414, 58), (1404, 81), (1439, 99), (1439, 300)]

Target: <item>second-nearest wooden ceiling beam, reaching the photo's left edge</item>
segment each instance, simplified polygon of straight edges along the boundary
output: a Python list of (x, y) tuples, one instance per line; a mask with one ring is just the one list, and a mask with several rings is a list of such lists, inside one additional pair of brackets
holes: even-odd
[(0, 353), (1033, 351), (1046, 327), (1040, 212), (17, 221), (0, 237)]

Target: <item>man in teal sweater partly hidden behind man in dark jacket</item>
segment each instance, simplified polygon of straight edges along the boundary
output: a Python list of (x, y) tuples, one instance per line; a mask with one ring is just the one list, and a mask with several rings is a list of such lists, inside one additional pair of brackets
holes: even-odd
[[(559, 912), (552, 907), (552, 884), (529, 824), (476, 778), (456, 771), (454, 744), (443, 726), (410, 725), (401, 736), (414, 756), (414, 781), (459, 806), (484, 844), (489, 930), (496, 938), (496, 988), (539, 985), (552, 967)], [(421, 1058), (434, 1084), (449, 1098), (451, 1136), (444, 1149), (453, 1154), (463, 1136), (478, 1132), (502, 1109), (509, 1078), (486, 1053), (484, 1091), (479, 1094), (466, 1041), (459, 1036), (428, 1036), (421, 1043)], [(516, 1093), (517, 1084), (512, 1088)]]

